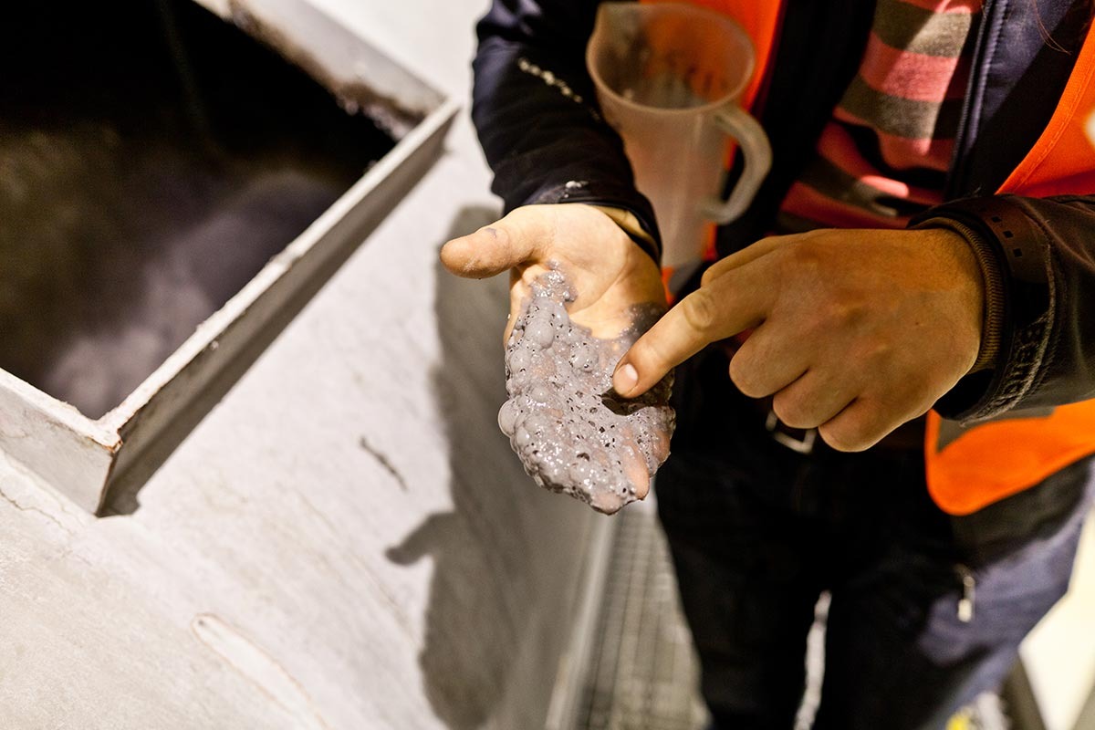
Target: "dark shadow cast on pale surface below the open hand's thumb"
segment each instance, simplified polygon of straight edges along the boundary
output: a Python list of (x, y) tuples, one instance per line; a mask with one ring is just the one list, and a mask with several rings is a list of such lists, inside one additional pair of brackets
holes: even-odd
[[(497, 217), (466, 208), (450, 237)], [(387, 556), (397, 565), (434, 561), (419, 663), (426, 696), (452, 730), (473, 730), (494, 715), (508, 686), (516, 647), (537, 600), (535, 558), (522, 521), (526, 477), (498, 431), (505, 399), (500, 282), (459, 279), (437, 264), (436, 321), (441, 356), (433, 371), (449, 442), (452, 511), (426, 518)], [(549, 676), (553, 674), (549, 669)]]

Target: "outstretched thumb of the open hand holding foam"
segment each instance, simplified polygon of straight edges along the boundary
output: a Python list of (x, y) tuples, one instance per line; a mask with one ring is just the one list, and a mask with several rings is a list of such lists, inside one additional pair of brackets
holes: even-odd
[(457, 276), (485, 279), (537, 258), (552, 227), (545, 211), (518, 208), (502, 220), (441, 246), (441, 263)]

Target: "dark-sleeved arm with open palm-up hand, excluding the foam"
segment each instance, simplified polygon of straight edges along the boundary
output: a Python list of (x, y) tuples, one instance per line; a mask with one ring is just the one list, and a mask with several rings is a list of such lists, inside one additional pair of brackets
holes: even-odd
[(635, 304), (665, 304), (653, 211), (586, 72), (596, 9), (496, 0), (477, 26), (472, 117), (506, 215), (446, 243), (441, 260), (463, 277), (509, 271), (507, 338), (550, 268), (576, 291), (570, 317), (598, 337), (634, 326)]

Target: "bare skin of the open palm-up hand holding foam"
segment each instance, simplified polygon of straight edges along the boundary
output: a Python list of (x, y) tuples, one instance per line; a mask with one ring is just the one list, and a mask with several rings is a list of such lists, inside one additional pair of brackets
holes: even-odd
[(568, 308), (570, 318), (595, 337), (615, 337), (626, 329), (634, 304), (665, 303), (654, 259), (604, 212), (578, 202), (517, 208), (446, 243), (441, 263), (458, 276), (475, 279), (510, 271), (507, 339), (530, 285), (552, 263), (577, 290)]

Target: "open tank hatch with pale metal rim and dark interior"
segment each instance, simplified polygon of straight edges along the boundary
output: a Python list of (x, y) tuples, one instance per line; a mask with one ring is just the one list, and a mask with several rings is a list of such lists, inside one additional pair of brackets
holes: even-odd
[(95, 512), (440, 153), (456, 104), (302, 0), (0, 30), (0, 449)]

